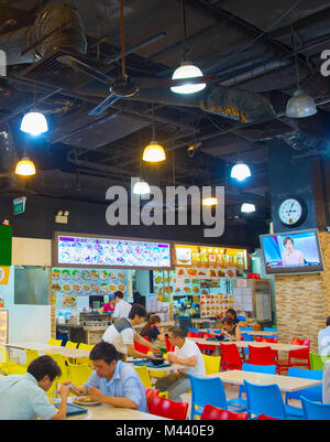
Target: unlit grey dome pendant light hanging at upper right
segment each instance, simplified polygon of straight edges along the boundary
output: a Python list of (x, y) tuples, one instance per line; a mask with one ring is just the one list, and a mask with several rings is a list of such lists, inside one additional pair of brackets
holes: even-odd
[(305, 118), (310, 117), (317, 114), (317, 107), (315, 100), (309, 95), (305, 94), (304, 90), (300, 89), (299, 82), (299, 73), (298, 73), (298, 57), (296, 51), (296, 39), (294, 29), (292, 26), (292, 44), (295, 56), (295, 71), (296, 71), (296, 79), (297, 79), (297, 90), (294, 93), (294, 96), (288, 100), (286, 106), (286, 116), (288, 118)]

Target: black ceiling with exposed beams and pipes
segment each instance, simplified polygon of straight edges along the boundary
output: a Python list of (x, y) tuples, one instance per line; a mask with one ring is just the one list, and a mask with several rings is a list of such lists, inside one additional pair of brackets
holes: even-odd
[[(0, 1), (0, 48), (7, 51), (10, 63), (7, 77), (0, 77), (2, 193), (24, 190), (105, 201), (109, 185), (129, 185), (142, 168), (146, 179), (161, 185), (226, 185), (230, 216), (248, 198), (261, 209), (255, 217), (267, 219), (267, 140), (282, 138), (294, 154), (304, 150), (311, 157), (329, 157), (330, 80), (320, 75), (320, 54), (330, 44), (329, 1), (251, 0), (248, 7), (242, 0), (186, 0), (188, 58), (204, 75), (217, 76), (204, 94), (217, 86), (239, 88), (258, 94), (273, 106), (273, 116), (249, 122), (227, 118), (211, 105), (206, 109), (197, 98), (174, 97), (169, 88), (142, 89), (132, 99), (118, 100), (101, 116), (88, 115), (107, 97), (108, 87), (48, 53), (36, 60), (37, 45), (30, 52), (29, 44), (21, 46), (41, 11), (54, 3), (59, 2)], [(76, 8), (87, 39), (87, 53), (77, 56), (111, 77), (120, 77), (119, 0), (66, 3)], [(140, 85), (170, 79), (183, 53), (182, 1), (124, 0), (123, 4), (129, 77), (138, 78)], [(319, 110), (304, 121), (284, 116), (296, 88), (292, 31), (301, 87), (312, 95)], [(37, 141), (19, 130), (34, 100), (51, 127)], [(167, 161), (156, 169), (140, 161), (151, 140), (153, 119), (157, 140), (167, 150)], [(314, 140), (310, 145), (304, 141), (306, 133)], [(197, 148), (194, 157), (188, 155), (189, 145)], [(239, 149), (253, 172), (241, 185), (229, 179)], [(28, 183), (12, 174), (25, 150), (38, 169)]]

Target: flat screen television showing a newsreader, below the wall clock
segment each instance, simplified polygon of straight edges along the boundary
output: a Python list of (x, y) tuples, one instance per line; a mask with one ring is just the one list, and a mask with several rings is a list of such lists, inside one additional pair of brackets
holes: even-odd
[(267, 274), (323, 271), (317, 229), (260, 235)]

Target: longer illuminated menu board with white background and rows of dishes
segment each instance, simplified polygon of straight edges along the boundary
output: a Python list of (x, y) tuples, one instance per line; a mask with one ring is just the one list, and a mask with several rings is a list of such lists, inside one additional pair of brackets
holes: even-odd
[(163, 241), (57, 233), (53, 250), (56, 266), (140, 269), (168, 269), (172, 266), (170, 244)]

